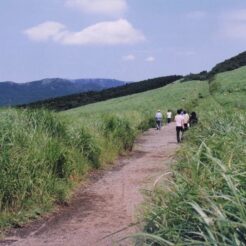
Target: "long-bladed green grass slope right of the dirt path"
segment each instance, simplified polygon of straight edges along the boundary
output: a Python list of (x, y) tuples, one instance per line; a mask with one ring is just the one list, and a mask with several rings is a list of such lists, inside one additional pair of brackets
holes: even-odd
[(171, 192), (149, 197), (147, 245), (246, 244), (245, 75), (245, 67), (218, 74), (199, 100), (200, 123), (178, 153)]

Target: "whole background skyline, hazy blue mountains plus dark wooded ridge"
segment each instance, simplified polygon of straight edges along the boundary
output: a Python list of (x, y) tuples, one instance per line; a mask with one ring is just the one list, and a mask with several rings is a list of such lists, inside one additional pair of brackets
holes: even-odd
[[(47, 107), (55, 110), (66, 110), (159, 88), (174, 82), (173, 78), (182, 78), (181, 82), (211, 80), (217, 73), (231, 71), (242, 66), (246, 66), (246, 51), (218, 63), (211, 71), (202, 71), (198, 74), (191, 73), (186, 76), (159, 77), (138, 83), (128, 84), (114, 79), (68, 80), (60, 78), (43, 79), (25, 84), (2, 82), (0, 83), (0, 106), (20, 105), (23, 107)], [(24, 86), (20, 87), (22, 85)]]

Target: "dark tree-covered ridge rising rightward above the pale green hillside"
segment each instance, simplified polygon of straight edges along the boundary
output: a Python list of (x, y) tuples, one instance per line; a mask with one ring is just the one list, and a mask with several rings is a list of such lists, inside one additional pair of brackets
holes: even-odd
[(126, 84), (115, 88), (105, 89), (100, 92), (89, 91), (86, 93), (78, 93), (69, 96), (56, 97), (48, 100), (37, 101), (30, 104), (24, 104), (20, 107), (28, 108), (47, 108), (56, 111), (67, 110), (75, 107), (80, 107), (90, 103), (105, 101), (112, 98), (117, 98), (126, 95), (132, 95), (156, 88), (163, 87), (180, 78), (182, 82), (191, 80), (206, 81), (212, 79), (216, 74), (231, 71), (246, 65), (246, 52), (242, 52), (237, 56), (227, 59), (211, 69), (210, 72), (202, 71), (198, 74), (189, 74), (186, 76), (166, 76), (154, 79), (148, 79), (136, 83)]

